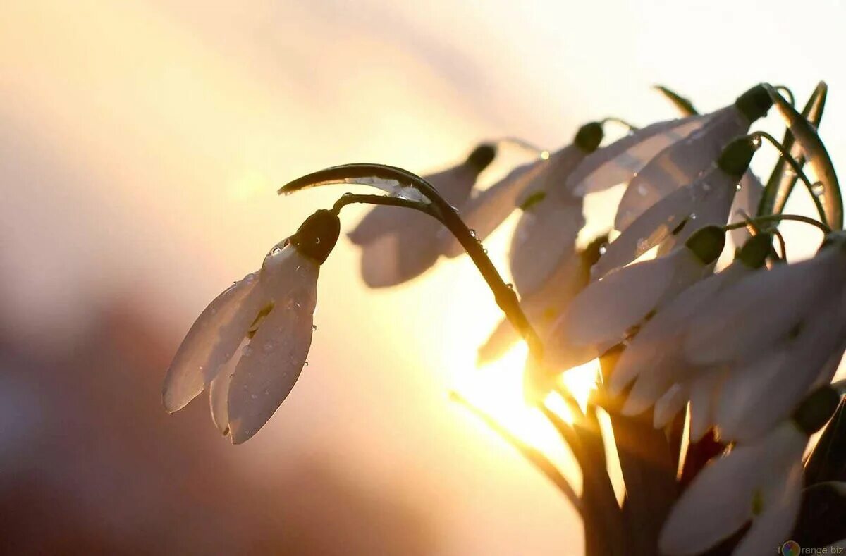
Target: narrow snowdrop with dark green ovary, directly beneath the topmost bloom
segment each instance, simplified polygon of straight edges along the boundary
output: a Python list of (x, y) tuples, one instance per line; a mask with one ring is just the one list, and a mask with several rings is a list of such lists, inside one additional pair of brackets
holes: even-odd
[(659, 243), (683, 243), (703, 226), (722, 226), (737, 193), (737, 185), (749, 168), (755, 147), (750, 139), (733, 140), (711, 169), (689, 185), (678, 188), (646, 209), (608, 244), (591, 270), (595, 277), (628, 264)]

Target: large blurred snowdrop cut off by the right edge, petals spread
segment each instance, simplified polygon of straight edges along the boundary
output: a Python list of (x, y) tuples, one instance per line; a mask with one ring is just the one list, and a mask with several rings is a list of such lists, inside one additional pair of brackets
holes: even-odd
[(812, 259), (745, 277), (697, 315), (684, 357), (729, 369), (715, 416), (722, 436), (761, 436), (832, 378), (846, 346), (844, 278), (846, 248), (834, 239)]

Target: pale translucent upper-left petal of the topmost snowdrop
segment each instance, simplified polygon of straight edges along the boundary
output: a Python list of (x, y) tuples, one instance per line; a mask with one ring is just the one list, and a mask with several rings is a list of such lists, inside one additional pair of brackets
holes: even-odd
[(569, 189), (575, 195), (585, 195), (628, 182), (653, 156), (710, 118), (711, 114), (653, 123), (596, 150), (569, 177)]

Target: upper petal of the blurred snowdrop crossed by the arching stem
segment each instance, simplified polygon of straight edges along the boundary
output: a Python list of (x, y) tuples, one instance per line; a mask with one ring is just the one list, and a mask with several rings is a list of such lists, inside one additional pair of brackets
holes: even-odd
[[(453, 206), (466, 202), (475, 183), (475, 172), (464, 164), (424, 177)], [(371, 243), (378, 237), (403, 227), (411, 212), (412, 210), (401, 207), (373, 207), (347, 235), (356, 245)]]

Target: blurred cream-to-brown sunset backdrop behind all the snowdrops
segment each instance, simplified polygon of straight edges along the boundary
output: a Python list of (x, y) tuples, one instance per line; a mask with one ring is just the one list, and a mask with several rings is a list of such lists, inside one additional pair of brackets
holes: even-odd
[[(566, 500), (448, 401), (491, 389), (492, 411), (576, 477), (496, 397), (517, 382), (488, 382), (516, 376), (519, 348), (474, 368), (499, 315), (467, 260), (368, 291), (342, 239), (310, 366), (242, 446), (203, 396), (163, 411), (170, 357), (206, 303), (345, 191), (275, 194), (324, 166), (426, 172), (503, 135), (557, 148), (592, 119), (674, 117), (656, 83), (707, 111), (762, 80), (804, 103), (820, 79), (838, 161), (844, 23), (835, 0), (4, 2), (0, 551), (580, 553)], [(763, 128), (781, 135), (773, 115)], [(507, 232), (489, 242), (503, 269)]]

